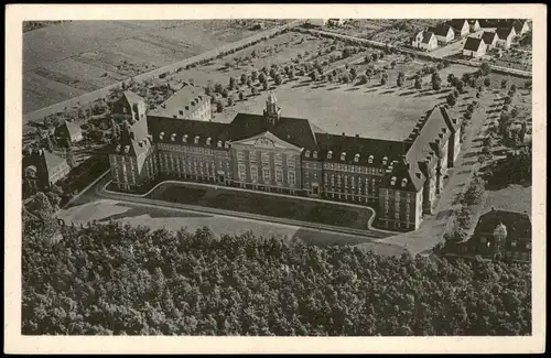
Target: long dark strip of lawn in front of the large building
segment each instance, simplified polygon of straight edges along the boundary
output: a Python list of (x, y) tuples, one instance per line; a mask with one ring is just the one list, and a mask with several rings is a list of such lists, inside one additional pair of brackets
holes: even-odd
[(361, 209), (339, 204), (277, 197), (261, 193), (237, 193), (226, 188), (194, 188), (185, 184), (162, 184), (148, 197), (356, 229), (366, 229), (367, 221), (371, 216), (371, 210), (368, 208)]

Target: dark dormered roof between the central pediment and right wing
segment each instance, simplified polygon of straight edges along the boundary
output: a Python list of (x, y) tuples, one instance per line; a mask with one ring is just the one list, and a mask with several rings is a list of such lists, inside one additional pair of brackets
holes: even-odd
[[(338, 135), (328, 133), (316, 133), (317, 145), (320, 147), (320, 156), (326, 162), (343, 164), (361, 164), (374, 167), (387, 169), (392, 161), (400, 160), (406, 154), (410, 143), (401, 141), (390, 141), (383, 139), (360, 138), (349, 135)], [(333, 155), (327, 159), (327, 152)], [(345, 160), (341, 160), (342, 153), (346, 153)], [(358, 162), (355, 162), (356, 154), (359, 154)], [(372, 162), (369, 158), (372, 155)], [(387, 158), (387, 165), (382, 165), (382, 159)]]

